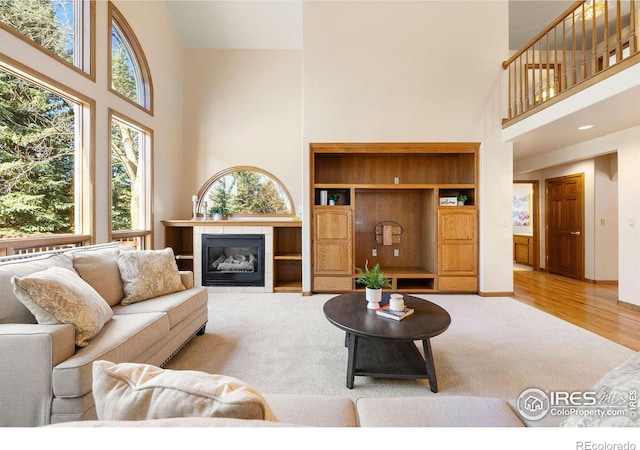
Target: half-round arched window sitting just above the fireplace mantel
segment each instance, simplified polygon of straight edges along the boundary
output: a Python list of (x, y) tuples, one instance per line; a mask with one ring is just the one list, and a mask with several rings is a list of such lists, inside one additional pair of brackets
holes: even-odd
[(211, 177), (198, 195), (198, 209), (207, 214), (291, 215), (292, 205), (280, 180), (255, 167), (223, 170)]

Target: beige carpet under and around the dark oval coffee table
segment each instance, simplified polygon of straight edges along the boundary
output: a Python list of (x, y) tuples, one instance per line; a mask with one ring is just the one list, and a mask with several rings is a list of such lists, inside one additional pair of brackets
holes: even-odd
[[(511, 298), (427, 295), (451, 315), (431, 340), (440, 392), (424, 380), (356, 377), (347, 389), (344, 333), (322, 306), (332, 295), (211, 294), (206, 334), (166, 368), (239, 378), (263, 393), (516, 398), (524, 389), (585, 390), (634, 352)], [(363, 308), (365, 305), (363, 304)]]

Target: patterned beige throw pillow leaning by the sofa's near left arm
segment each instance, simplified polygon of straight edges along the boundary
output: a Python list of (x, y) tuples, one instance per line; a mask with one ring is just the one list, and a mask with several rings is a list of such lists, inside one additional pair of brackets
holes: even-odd
[(107, 302), (73, 270), (50, 267), (25, 277), (14, 276), (11, 283), (16, 297), (38, 323), (73, 325), (79, 347), (86, 347), (113, 317)]

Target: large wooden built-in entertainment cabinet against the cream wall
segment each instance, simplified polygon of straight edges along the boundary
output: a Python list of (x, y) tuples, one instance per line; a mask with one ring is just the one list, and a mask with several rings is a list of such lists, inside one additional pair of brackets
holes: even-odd
[[(364, 289), (355, 267), (368, 261), (394, 291), (477, 292), (478, 148), (311, 144), (312, 291)], [(459, 194), (464, 206), (440, 205)]]

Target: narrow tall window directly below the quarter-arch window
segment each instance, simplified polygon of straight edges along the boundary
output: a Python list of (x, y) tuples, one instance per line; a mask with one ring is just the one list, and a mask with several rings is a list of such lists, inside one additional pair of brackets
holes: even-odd
[(111, 118), (111, 229), (151, 228), (150, 132), (121, 117)]

